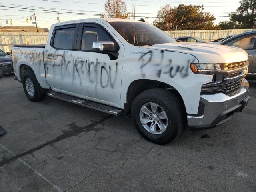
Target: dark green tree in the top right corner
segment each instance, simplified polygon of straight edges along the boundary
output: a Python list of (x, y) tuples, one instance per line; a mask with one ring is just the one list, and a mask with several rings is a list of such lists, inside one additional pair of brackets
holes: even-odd
[(256, 0), (242, 0), (236, 13), (230, 14), (230, 21), (237, 25), (252, 28), (256, 25)]

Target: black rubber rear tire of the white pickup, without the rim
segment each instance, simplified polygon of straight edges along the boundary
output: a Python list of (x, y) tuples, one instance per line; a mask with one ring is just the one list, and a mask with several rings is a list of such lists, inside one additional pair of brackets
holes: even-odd
[[(26, 89), (26, 80), (27, 79), (28, 80), (30, 79), (34, 85), (34, 94), (32, 96), (28, 93), (28, 91)], [(22, 84), (23, 84), (24, 92), (30, 101), (38, 102), (38, 101), (42, 101), (45, 98), (46, 92), (41, 88), (33, 71), (25, 72), (25, 74), (22, 78)]]

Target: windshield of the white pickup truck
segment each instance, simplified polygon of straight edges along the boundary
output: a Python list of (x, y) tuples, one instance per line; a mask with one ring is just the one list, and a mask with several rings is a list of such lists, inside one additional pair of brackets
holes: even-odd
[(111, 21), (109, 24), (128, 43), (135, 46), (152, 46), (154, 44), (175, 42), (173, 38), (162, 30), (144, 22)]

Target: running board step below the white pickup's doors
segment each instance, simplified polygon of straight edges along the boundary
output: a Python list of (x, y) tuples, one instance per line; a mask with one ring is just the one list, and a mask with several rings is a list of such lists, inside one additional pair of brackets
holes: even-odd
[(65, 95), (65, 94), (61, 94), (61, 93), (50, 92), (47, 95), (50, 97), (53, 97), (53, 98), (68, 101), (68, 102), (71, 102), (74, 104), (78, 104), (78, 105), (81, 105), (84, 107), (102, 111), (102, 112), (112, 114), (115, 116), (118, 116), (118, 115), (122, 114), (122, 112), (123, 112), (122, 110), (112, 107), (112, 106), (100, 104), (100, 103), (89, 101), (89, 100), (80, 99), (80, 98), (77, 98), (74, 96), (69, 96), (69, 95)]

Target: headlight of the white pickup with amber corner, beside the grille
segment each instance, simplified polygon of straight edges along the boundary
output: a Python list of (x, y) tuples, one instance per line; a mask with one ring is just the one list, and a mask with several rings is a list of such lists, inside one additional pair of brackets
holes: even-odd
[(224, 63), (191, 63), (190, 69), (194, 73), (209, 73), (216, 70), (224, 70)]

